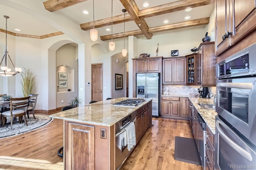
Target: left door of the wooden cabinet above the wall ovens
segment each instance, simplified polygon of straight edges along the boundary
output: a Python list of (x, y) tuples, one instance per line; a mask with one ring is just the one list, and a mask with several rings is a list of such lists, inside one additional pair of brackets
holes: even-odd
[(231, 44), (230, 36), (224, 40), (222, 39), (226, 32), (232, 32), (229, 19), (229, 0), (215, 0), (215, 10), (215, 50), (216, 55), (218, 55)]

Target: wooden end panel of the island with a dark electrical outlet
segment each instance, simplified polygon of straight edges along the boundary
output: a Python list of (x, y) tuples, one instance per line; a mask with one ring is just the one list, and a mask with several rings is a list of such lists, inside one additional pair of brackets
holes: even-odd
[[(64, 168), (114, 170), (114, 126), (92, 126), (64, 120)], [(106, 139), (101, 138), (106, 129)]]

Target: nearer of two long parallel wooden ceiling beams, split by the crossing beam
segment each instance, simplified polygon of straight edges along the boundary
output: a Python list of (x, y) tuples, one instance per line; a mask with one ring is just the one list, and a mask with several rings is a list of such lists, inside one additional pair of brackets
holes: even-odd
[[(176, 2), (171, 2), (168, 4), (163, 4), (159, 6), (155, 6), (152, 8), (147, 8), (144, 10), (139, 11), (139, 18), (147, 18), (152, 16), (158, 16), (170, 12), (175, 12), (178, 10), (185, 10), (188, 6), (192, 8), (214, 4), (214, 0), (180, 0)], [(127, 9), (126, 9), (127, 10)], [(125, 21), (132, 21), (130, 14), (125, 14)], [(124, 22), (124, 15), (113, 16), (113, 24), (120, 24)], [(103, 26), (110, 26), (111, 25), (111, 17), (105, 18), (102, 20), (94, 21), (94, 28), (100, 28)], [(80, 28), (84, 31), (90, 30), (93, 28), (93, 22), (87, 22), (84, 24), (80, 24)]]

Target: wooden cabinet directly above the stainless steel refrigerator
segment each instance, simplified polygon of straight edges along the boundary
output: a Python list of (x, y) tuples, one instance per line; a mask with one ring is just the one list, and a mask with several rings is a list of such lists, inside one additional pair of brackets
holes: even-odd
[(136, 73), (155, 73), (162, 70), (163, 57), (133, 58)]

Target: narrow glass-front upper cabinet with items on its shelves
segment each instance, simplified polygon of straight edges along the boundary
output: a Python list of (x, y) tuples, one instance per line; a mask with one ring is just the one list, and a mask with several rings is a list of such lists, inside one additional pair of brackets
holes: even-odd
[(187, 55), (187, 84), (196, 84), (196, 58), (197, 53)]

